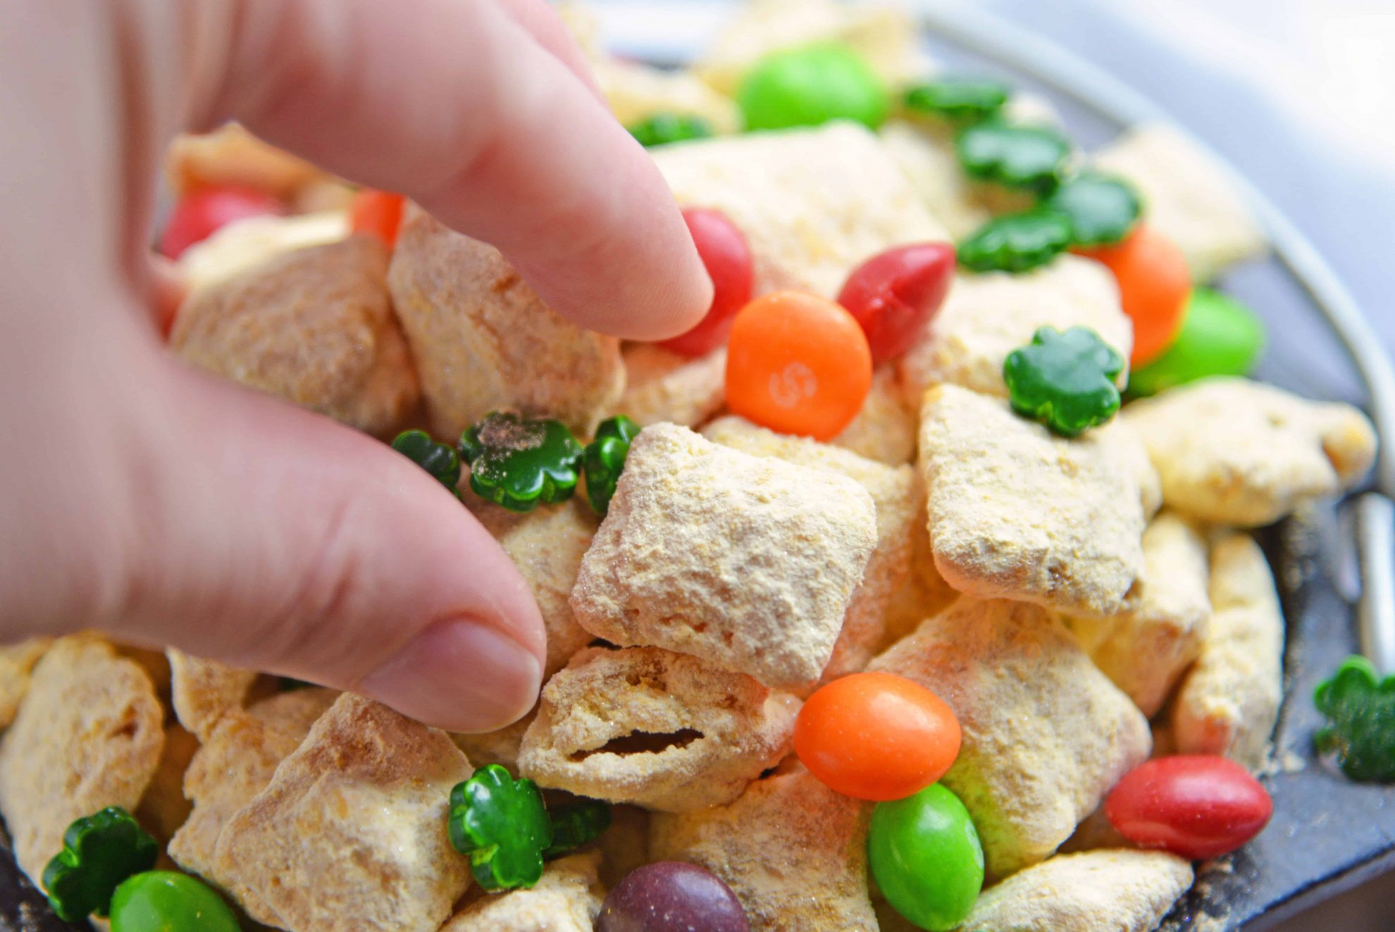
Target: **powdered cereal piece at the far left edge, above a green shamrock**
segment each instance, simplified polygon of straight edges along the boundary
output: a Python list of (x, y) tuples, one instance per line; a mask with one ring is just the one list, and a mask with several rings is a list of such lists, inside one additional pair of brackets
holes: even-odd
[(140, 664), (91, 635), (53, 642), (0, 741), (0, 813), (35, 885), (74, 819), (135, 811), (163, 746), (165, 710)]

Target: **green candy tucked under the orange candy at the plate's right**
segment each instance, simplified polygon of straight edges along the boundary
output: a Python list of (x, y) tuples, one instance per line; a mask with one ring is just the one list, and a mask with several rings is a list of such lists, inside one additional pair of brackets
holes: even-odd
[(1246, 375), (1262, 352), (1264, 324), (1250, 308), (1196, 287), (1172, 346), (1129, 375), (1129, 393), (1156, 395), (1208, 375)]

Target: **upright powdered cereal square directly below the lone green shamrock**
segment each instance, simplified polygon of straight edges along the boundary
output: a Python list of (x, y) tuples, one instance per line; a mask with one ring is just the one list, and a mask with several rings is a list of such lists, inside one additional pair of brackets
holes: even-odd
[(1143, 491), (1117, 424), (1066, 439), (956, 385), (925, 395), (935, 565), (978, 599), (1113, 615), (1143, 573)]

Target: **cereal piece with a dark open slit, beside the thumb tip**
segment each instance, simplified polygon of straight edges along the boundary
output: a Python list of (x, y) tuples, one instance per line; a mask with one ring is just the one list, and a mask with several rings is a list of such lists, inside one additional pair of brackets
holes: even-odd
[(658, 647), (590, 647), (543, 688), (519, 770), (541, 787), (686, 812), (790, 752), (794, 696)]

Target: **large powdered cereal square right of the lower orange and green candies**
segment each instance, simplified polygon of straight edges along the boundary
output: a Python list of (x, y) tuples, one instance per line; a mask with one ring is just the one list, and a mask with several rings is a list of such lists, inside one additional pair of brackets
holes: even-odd
[(919, 682), (958, 716), (963, 745), (943, 783), (995, 876), (1049, 857), (1148, 756), (1148, 720), (1038, 606), (961, 599), (870, 670)]

